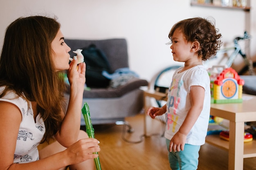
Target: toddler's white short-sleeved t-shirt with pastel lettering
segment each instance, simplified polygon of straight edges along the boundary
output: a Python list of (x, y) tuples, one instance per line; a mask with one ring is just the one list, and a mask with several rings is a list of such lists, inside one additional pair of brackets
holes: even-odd
[(200, 116), (186, 137), (186, 144), (203, 145), (207, 135), (211, 108), (210, 79), (207, 70), (202, 65), (179, 73), (183, 67), (173, 74), (173, 80), (168, 90), (166, 103), (166, 139), (172, 139), (180, 129), (191, 108), (190, 87), (202, 86), (205, 90), (204, 105)]

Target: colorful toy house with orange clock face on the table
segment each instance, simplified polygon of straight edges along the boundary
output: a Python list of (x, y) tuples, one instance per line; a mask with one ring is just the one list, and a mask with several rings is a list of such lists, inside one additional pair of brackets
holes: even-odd
[(245, 81), (233, 68), (226, 68), (220, 74), (209, 72), (211, 80), (211, 102), (216, 104), (241, 103)]

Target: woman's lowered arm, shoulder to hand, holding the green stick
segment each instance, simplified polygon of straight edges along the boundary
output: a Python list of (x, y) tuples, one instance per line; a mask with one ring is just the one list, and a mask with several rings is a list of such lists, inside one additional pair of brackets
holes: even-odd
[(18, 130), (22, 119), (17, 106), (0, 102), (0, 170), (58, 170), (70, 164), (98, 157), (97, 139), (82, 139), (63, 152), (31, 163), (13, 163)]

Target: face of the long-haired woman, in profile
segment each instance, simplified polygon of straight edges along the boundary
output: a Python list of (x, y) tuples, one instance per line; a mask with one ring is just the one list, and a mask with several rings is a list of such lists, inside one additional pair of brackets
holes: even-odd
[(58, 30), (56, 37), (52, 41), (52, 50), (52, 57), (54, 61), (55, 70), (62, 71), (69, 69), (70, 54), (68, 52), (71, 49), (64, 42), (64, 36), (60, 29)]

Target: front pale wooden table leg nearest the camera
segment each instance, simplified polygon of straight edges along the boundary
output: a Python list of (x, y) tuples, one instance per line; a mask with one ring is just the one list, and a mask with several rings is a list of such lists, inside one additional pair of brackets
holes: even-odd
[(243, 170), (244, 122), (229, 123), (229, 170)]

